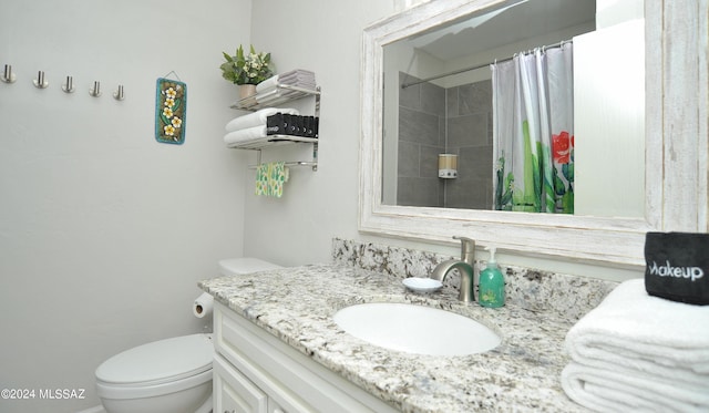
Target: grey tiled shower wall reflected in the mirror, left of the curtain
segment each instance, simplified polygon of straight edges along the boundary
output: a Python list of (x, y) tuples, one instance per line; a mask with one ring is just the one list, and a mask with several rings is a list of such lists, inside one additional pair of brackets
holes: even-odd
[[(441, 153), (458, 154), (458, 178), (438, 177)], [(397, 205), (491, 209), (491, 81), (400, 90), (398, 156)]]

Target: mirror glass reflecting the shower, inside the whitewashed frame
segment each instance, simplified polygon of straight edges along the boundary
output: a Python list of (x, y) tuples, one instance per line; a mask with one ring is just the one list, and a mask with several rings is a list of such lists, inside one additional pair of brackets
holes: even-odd
[[(576, 171), (575, 179), (563, 177), (573, 182), (573, 189), (564, 188), (569, 193), (565, 213), (643, 217), (643, 0), (625, 3), (631, 7), (618, 12), (604, 0), (598, 11), (596, 0), (517, 0), (383, 45), (382, 203), (503, 209), (493, 206), (494, 167), (501, 164), (493, 123), (504, 117), (493, 112), (492, 66), (510, 71), (514, 55), (531, 59), (536, 49), (545, 59), (568, 55), (573, 62), (564, 87), (569, 93), (562, 94), (573, 99), (563, 106), (562, 96), (549, 102), (564, 114), (558, 117), (564, 126), (557, 127), (568, 127), (575, 142), (573, 156), (563, 161), (567, 171)], [(610, 17), (615, 20), (608, 22)], [(562, 87), (565, 78), (552, 72), (549, 87)], [(496, 104), (502, 101), (499, 96)], [(613, 116), (609, 101), (623, 102)], [(609, 146), (621, 158), (609, 157)], [(455, 169), (438, 167), (439, 158), (450, 158), (446, 154), (454, 156)]]

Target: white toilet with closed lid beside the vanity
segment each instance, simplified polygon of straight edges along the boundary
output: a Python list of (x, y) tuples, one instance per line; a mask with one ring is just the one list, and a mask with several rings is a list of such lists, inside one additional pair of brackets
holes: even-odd
[[(256, 258), (219, 261), (224, 276), (277, 268)], [(138, 345), (99, 365), (96, 393), (107, 413), (208, 413), (213, 358), (212, 334)]]

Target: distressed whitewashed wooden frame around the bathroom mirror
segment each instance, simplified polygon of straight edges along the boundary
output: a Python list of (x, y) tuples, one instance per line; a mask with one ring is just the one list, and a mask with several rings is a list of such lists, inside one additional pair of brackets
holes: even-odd
[[(623, 1), (608, 0), (606, 3)], [(517, 254), (636, 268), (644, 265), (645, 233), (706, 231), (707, 86), (706, 75), (702, 78), (699, 73), (701, 68), (706, 71), (707, 56), (702, 53), (701, 42), (706, 41), (707, 31), (706, 22), (693, 13), (698, 7), (695, 1), (676, 8), (651, 0), (645, 4), (643, 152), (648, 167), (644, 168), (641, 177), (644, 205), (637, 216), (503, 213), (398, 206), (382, 202), (387, 168), (382, 130), (388, 122), (383, 104), (387, 95), (383, 92), (384, 49), (419, 33), (429, 33), (433, 28), (456, 23), (463, 17), (484, 16), (514, 3), (518, 1), (433, 1), (364, 30), (360, 230), (438, 242), (451, 242), (452, 235), (464, 235), (476, 239), (481, 246), (495, 245)], [(669, 30), (675, 24), (690, 29), (679, 33)], [(669, 48), (670, 43), (685, 44), (682, 50), (688, 50), (688, 55), (672, 55), (677, 49)], [(671, 83), (668, 82), (670, 79)]]

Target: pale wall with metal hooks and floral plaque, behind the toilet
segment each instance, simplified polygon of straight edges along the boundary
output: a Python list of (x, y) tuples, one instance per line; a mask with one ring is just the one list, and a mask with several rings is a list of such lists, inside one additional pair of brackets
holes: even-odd
[[(86, 399), (0, 411), (97, 405), (107, 357), (203, 330), (196, 282), (243, 252), (246, 157), (224, 148), (236, 90), (218, 65), (249, 30), (248, 0), (2, 3), (0, 68), (18, 80), (0, 83), (0, 389)], [(32, 85), (38, 70), (49, 89)], [(182, 146), (154, 138), (155, 81), (169, 71), (188, 87)]]

